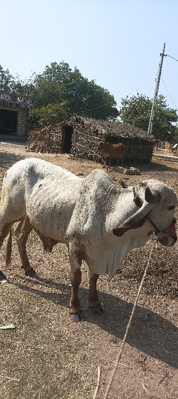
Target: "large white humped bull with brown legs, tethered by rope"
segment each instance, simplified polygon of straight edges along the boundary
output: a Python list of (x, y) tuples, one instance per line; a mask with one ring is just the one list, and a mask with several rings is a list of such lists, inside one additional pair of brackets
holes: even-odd
[[(7, 240), (7, 263), (11, 252), (11, 226), (14, 230), (22, 268), (35, 276), (26, 252), (29, 233), (34, 229), (50, 252), (53, 246), (67, 244), (71, 265), (73, 321), (83, 316), (78, 289), (81, 263), (89, 267), (89, 307), (94, 314), (103, 309), (98, 300), (99, 274), (113, 276), (125, 256), (142, 247), (151, 237), (165, 246), (177, 240), (174, 191), (157, 180), (134, 187), (116, 188), (109, 176), (98, 169), (86, 178), (49, 162), (27, 158), (5, 173), (0, 200), (0, 246)], [(0, 279), (5, 279), (0, 271)]]

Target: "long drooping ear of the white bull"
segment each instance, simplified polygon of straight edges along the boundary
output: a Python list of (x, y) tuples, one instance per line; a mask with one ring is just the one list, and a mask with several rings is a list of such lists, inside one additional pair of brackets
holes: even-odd
[(113, 234), (121, 237), (126, 231), (141, 227), (152, 207), (152, 204), (144, 201), (142, 207), (134, 215), (125, 220), (119, 227), (112, 230)]

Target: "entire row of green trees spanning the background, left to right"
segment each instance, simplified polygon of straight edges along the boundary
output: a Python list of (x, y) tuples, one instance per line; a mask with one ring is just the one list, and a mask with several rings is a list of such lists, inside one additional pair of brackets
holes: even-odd
[[(68, 63), (52, 62), (40, 73), (33, 73), (22, 81), (13, 77), (0, 65), (0, 90), (33, 97), (34, 110), (30, 111), (30, 128), (41, 128), (48, 123), (56, 124), (72, 115), (89, 118), (116, 120), (148, 130), (152, 100), (145, 95), (122, 98), (118, 112), (116, 101), (107, 89), (85, 78), (77, 67), (72, 70)], [(178, 136), (177, 110), (169, 108), (163, 95), (158, 96), (152, 134), (160, 140), (172, 141)]]

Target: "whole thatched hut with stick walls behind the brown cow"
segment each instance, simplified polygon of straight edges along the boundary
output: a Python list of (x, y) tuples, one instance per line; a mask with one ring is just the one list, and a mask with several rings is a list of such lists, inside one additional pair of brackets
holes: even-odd
[(96, 146), (100, 140), (123, 143), (127, 163), (149, 163), (156, 143), (154, 136), (127, 123), (73, 116), (41, 132), (30, 132), (27, 151), (67, 153), (101, 163), (102, 156)]

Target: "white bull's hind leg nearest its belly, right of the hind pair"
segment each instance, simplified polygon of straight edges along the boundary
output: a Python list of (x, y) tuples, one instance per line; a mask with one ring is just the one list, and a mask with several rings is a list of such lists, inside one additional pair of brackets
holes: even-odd
[(36, 274), (33, 267), (30, 266), (29, 259), (26, 253), (26, 242), (27, 238), (32, 231), (33, 227), (31, 226), (29, 219), (21, 220), (18, 226), (16, 227), (14, 234), (16, 237), (16, 242), (18, 246), (18, 251), (21, 259), (22, 269), (25, 271), (26, 276), (34, 276)]

